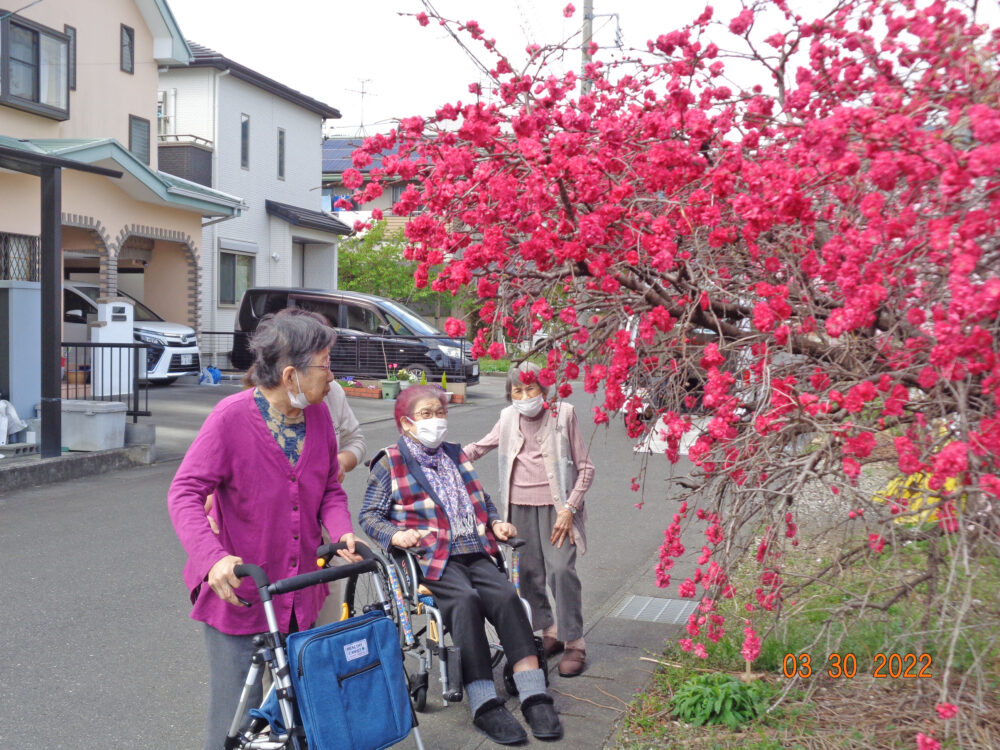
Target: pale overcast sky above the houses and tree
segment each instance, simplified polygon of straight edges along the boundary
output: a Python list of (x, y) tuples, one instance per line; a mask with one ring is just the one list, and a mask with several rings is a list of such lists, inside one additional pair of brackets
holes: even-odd
[[(446, 102), (470, 100), (470, 83), (485, 79), (465, 52), (435, 22), (421, 27), (413, 15), (422, 0), (168, 0), (181, 31), (242, 65), (340, 110), (328, 122), (338, 135), (384, 132), (393, 118), (429, 114)], [(568, 0), (429, 0), (446, 18), (476, 20), (487, 37), (516, 62), (530, 44), (579, 43), (583, 0), (564, 18)], [(728, 22), (739, 0), (712, 0), (715, 18)], [(806, 0), (804, 15), (819, 15), (824, 2)], [(981, 18), (996, 23), (998, 0), (980, 0)], [(688, 23), (704, 0), (594, 0), (598, 58), (624, 47), (644, 48), (647, 39)], [(409, 15), (400, 15), (400, 14)], [(616, 14), (616, 15), (609, 15)], [(983, 17), (983, 16), (986, 17)], [(762, 24), (763, 26), (763, 24)], [(762, 36), (767, 36), (768, 31)], [(481, 59), (482, 46), (463, 39)], [(566, 67), (579, 69), (574, 52)], [(362, 87), (366, 95), (362, 99)], [(485, 86), (484, 86), (485, 88)]]

